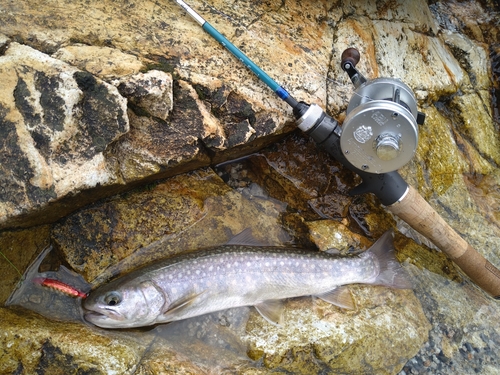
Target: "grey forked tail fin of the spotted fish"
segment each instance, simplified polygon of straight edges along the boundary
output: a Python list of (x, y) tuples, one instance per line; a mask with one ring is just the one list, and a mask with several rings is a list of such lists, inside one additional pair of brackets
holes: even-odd
[(380, 267), (377, 278), (371, 284), (397, 289), (412, 289), (413, 285), (408, 272), (396, 259), (392, 236), (393, 231), (388, 230), (368, 249), (375, 256)]

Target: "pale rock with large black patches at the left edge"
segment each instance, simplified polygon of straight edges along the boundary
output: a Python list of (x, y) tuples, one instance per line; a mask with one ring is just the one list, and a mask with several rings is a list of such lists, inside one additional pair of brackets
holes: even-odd
[(67, 208), (50, 203), (120, 183), (105, 156), (129, 128), (114, 86), (18, 43), (0, 57), (0, 70), (0, 227), (31, 225), (44, 209), (63, 215)]

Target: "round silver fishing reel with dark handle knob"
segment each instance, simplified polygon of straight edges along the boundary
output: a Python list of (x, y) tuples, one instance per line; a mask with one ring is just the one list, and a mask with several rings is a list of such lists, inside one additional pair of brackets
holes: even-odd
[(357, 69), (355, 48), (342, 53), (341, 67), (356, 90), (342, 125), (340, 148), (356, 168), (370, 173), (395, 171), (408, 163), (418, 145), (418, 125), (425, 114), (417, 110), (413, 91), (401, 80), (367, 80)]

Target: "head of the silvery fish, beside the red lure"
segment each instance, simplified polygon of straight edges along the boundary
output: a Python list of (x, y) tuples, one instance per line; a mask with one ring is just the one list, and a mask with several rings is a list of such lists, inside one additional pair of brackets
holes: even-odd
[(167, 298), (152, 281), (108, 284), (83, 302), (85, 320), (102, 328), (133, 328), (156, 323)]

